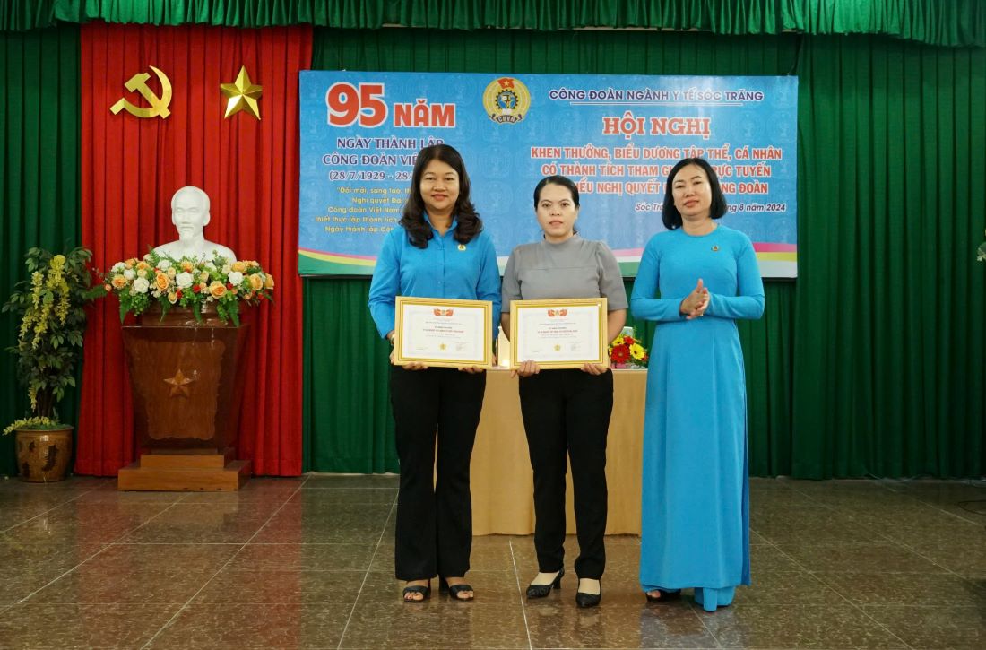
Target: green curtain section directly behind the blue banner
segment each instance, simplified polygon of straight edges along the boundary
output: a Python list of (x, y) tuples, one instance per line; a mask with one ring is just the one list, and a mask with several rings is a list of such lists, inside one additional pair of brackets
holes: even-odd
[[(795, 35), (318, 30), (313, 68), (777, 75), (793, 68), (798, 48)], [(396, 469), (387, 346), (379, 341), (366, 309), (368, 289), (365, 278), (305, 281), (306, 469)], [(631, 289), (628, 282), (628, 295)], [(750, 449), (751, 471), (757, 475), (791, 472), (794, 290), (792, 282), (769, 283), (763, 320), (741, 325), (747, 383), (755, 396), (750, 401)], [(630, 319), (630, 325), (637, 325), (650, 341), (652, 324)]]

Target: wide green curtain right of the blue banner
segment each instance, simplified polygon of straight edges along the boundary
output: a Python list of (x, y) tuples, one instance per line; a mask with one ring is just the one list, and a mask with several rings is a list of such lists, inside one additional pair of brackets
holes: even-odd
[(986, 50), (811, 37), (793, 472), (986, 471)]

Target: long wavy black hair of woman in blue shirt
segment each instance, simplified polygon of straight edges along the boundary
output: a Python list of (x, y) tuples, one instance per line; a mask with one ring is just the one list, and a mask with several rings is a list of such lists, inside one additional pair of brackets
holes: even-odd
[(469, 175), (465, 173), (465, 163), (454, 147), (447, 144), (434, 144), (418, 152), (411, 174), (411, 190), (401, 211), (400, 225), (407, 231), (407, 239), (419, 249), (428, 248), (428, 240), (433, 237), (431, 226), (425, 221), (425, 201), (421, 197), (421, 177), (425, 168), (433, 160), (439, 160), (455, 170), (458, 174), (458, 198), (453, 208), (453, 215), (458, 221), (455, 239), (459, 244), (468, 244), (479, 233), (483, 232), (483, 222), (479, 213), (469, 198), (471, 185)]

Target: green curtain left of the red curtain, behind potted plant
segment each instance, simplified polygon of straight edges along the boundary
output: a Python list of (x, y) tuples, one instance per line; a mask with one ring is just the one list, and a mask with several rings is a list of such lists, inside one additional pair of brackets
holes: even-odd
[[(79, 27), (0, 34), (0, 301), (27, 277), (24, 253), (79, 244)], [(0, 316), (0, 342), (18, 323)], [(23, 417), (27, 391), (14, 381), (14, 357), (0, 353), (0, 427)], [(78, 377), (78, 375), (77, 375)], [(75, 423), (75, 391), (58, 407)], [(14, 436), (0, 438), (0, 474), (16, 474)]]

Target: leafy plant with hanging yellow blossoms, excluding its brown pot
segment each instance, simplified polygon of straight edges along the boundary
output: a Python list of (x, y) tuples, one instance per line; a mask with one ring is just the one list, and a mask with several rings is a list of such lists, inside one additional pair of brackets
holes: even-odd
[(17, 377), (28, 388), (31, 413), (4, 429), (60, 429), (55, 404), (75, 386), (75, 365), (86, 333), (86, 306), (103, 295), (93, 287), (88, 266), (93, 253), (76, 248), (66, 254), (31, 249), (25, 255), (30, 278), (14, 286), (4, 312), (21, 318), (17, 345)]

